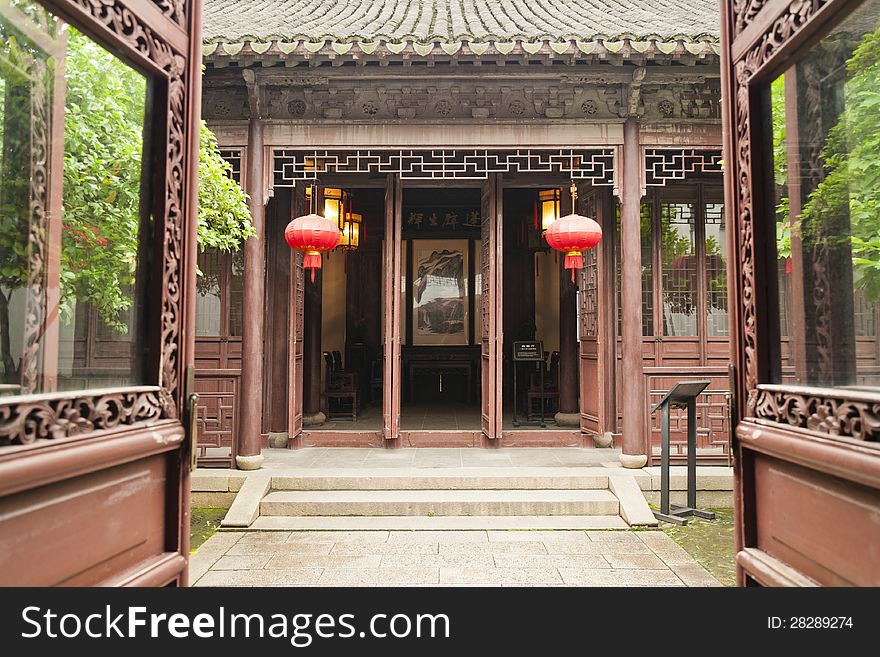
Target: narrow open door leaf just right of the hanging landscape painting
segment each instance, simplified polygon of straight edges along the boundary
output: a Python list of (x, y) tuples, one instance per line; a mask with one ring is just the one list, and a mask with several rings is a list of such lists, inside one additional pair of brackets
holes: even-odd
[(480, 367), (483, 436), (501, 438), (501, 253), (504, 214), (500, 174), (489, 174), (480, 198)]

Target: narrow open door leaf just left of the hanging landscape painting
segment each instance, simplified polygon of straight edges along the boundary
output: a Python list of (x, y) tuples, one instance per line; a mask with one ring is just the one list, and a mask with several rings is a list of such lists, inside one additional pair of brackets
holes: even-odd
[(403, 189), (400, 178), (389, 174), (385, 183), (385, 240), (382, 253), (382, 287), (385, 295), (383, 317), (384, 380), (382, 393), (385, 440), (400, 438), (400, 313), (405, 302), (401, 280), (401, 233), (403, 231)]

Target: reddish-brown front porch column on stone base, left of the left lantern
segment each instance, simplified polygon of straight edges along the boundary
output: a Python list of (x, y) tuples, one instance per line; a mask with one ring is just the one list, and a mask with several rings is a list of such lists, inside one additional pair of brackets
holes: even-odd
[(248, 125), (246, 182), (248, 208), (257, 234), (244, 244), (242, 312), (245, 321), (241, 335), (241, 412), (235, 462), (241, 470), (257, 470), (263, 464), (260, 427), (263, 416), (263, 243), (266, 232), (263, 122), (260, 119), (251, 119)]

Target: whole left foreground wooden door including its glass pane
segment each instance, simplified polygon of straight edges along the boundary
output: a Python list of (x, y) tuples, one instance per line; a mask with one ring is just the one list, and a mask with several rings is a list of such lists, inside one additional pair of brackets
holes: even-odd
[[(0, 585), (187, 584), (201, 3), (157, 6), (0, 2)], [(73, 366), (86, 290), (136, 347), (112, 374)]]

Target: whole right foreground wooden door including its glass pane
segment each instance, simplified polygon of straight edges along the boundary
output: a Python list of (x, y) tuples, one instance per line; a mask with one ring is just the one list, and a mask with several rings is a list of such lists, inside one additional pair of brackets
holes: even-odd
[(880, 585), (880, 380), (853, 357), (878, 25), (874, 1), (722, 3), (740, 585)]

